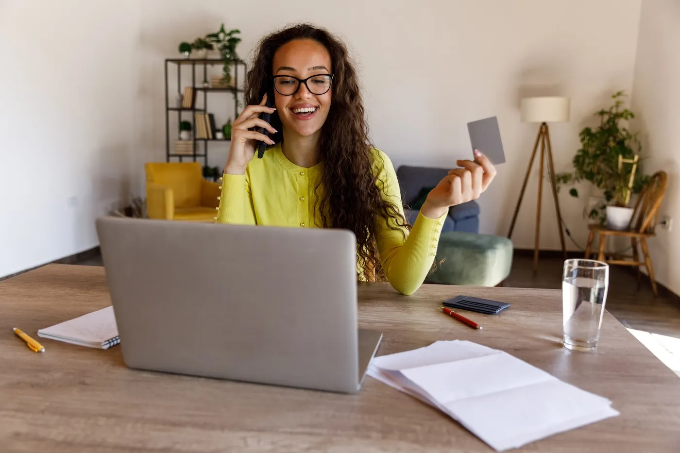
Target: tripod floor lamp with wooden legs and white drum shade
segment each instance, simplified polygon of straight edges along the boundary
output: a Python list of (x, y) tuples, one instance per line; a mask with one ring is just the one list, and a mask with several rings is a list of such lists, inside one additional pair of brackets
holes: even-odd
[(513, 229), (515, 229), (515, 220), (517, 220), (517, 213), (520, 212), (520, 205), (524, 197), (524, 190), (526, 190), (526, 183), (529, 180), (531, 167), (534, 164), (534, 158), (539, 150), (539, 143), (541, 146), (541, 156), (539, 164), (539, 197), (536, 207), (536, 233), (534, 235), (534, 272), (539, 266), (539, 233), (541, 231), (541, 195), (543, 195), (543, 163), (547, 161), (547, 170), (550, 180), (550, 187), (553, 192), (553, 199), (555, 201), (555, 212), (557, 213), (557, 224), (560, 229), (560, 244), (562, 244), (562, 254), (566, 259), (566, 249), (564, 248), (564, 233), (562, 231), (562, 214), (560, 214), (560, 203), (557, 197), (557, 185), (555, 181), (555, 166), (553, 164), (552, 146), (550, 144), (550, 133), (548, 129), (549, 122), (566, 122), (569, 120), (569, 98), (568, 97), (525, 97), (521, 103), (522, 122), (538, 122), (539, 133), (536, 136), (534, 143), (534, 150), (531, 153), (529, 165), (524, 175), (524, 182), (522, 183), (522, 190), (520, 190), (520, 198), (517, 199), (515, 206), (515, 214), (512, 216), (510, 222), (510, 231), (508, 231), (508, 238), (512, 236)]

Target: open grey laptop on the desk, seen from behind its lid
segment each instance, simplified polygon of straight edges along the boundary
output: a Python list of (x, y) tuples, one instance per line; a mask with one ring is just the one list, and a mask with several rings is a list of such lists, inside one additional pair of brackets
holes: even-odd
[(360, 390), (382, 334), (358, 329), (352, 232), (101, 217), (97, 234), (128, 367)]

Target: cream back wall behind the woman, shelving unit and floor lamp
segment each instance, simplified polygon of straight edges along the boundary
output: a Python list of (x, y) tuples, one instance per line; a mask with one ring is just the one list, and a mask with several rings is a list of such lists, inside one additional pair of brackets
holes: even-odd
[[(220, 0), (144, 1), (137, 108), (138, 145), (148, 152), (140, 154), (137, 169), (143, 159), (165, 158), (163, 59), (177, 55), (180, 41), (213, 31), (220, 22), (241, 29), (241, 56), (264, 33), (289, 22), (311, 20), (339, 33), (360, 66), (375, 144), (395, 165), (452, 167), (457, 158), (471, 154), (466, 122), (498, 116), (507, 163), (480, 201), (482, 233), (507, 233), (526, 171), (537, 124), (520, 122), (522, 95), (572, 99), (571, 122), (551, 126), (559, 171), (571, 167), (578, 133), (592, 122), (592, 112), (609, 105), (615, 90), (630, 92), (632, 87), (640, 0), (345, 0), (313, 5), (260, 0), (254, 10), (249, 2), (226, 7)], [(220, 124), (226, 120), (221, 113), (216, 112)], [(224, 165), (227, 147), (220, 145), (211, 144), (210, 165)], [(533, 247), (537, 179), (534, 166), (513, 235), (517, 248)], [(541, 248), (559, 248), (547, 185), (543, 193)], [(584, 202), (566, 191), (560, 199), (564, 220), (585, 245)]]

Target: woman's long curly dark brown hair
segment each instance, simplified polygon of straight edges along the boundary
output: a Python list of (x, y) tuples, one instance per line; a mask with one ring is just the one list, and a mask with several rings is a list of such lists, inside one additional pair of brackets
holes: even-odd
[[(265, 93), (273, 99), (272, 72), (276, 51), (294, 39), (313, 39), (330, 54), (333, 101), (321, 129), (319, 155), (321, 180), (314, 188), (320, 216), (319, 227), (347, 229), (356, 236), (359, 280), (386, 280), (375, 242), (374, 222), (386, 219), (391, 229), (410, 229), (401, 209), (384, 197), (377, 186), (377, 172), (384, 163), (374, 163), (369, 127), (358, 77), (345, 44), (326, 29), (296, 24), (263, 37), (254, 52), (245, 80), (245, 101), (260, 103)], [(277, 114), (271, 125), (279, 132), (271, 136), (282, 141), (282, 124)], [(404, 233), (405, 237), (405, 233)]]

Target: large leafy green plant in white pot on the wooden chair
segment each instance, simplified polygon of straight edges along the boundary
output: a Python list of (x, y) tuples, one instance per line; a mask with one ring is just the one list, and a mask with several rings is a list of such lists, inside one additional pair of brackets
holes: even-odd
[[(581, 149), (573, 158), (574, 170), (556, 175), (558, 184), (575, 184), (588, 181), (602, 192), (604, 202), (590, 207), (588, 218), (604, 223), (610, 229), (626, 229), (632, 217), (628, 207), (630, 196), (642, 190), (648, 177), (638, 168), (642, 144), (637, 133), (631, 133), (622, 124), (634, 118), (633, 112), (624, 107), (624, 91), (612, 95), (613, 105), (600, 110), (596, 128), (585, 127), (579, 134)], [(632, 192), (632, 194), (631, 194)], [(578, 197), (575, 187), (569, 190)]]

